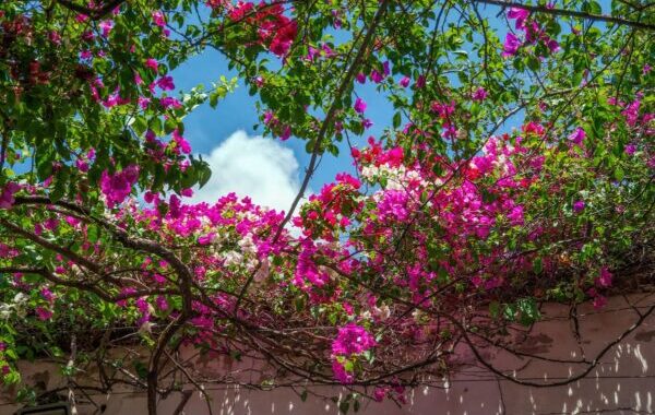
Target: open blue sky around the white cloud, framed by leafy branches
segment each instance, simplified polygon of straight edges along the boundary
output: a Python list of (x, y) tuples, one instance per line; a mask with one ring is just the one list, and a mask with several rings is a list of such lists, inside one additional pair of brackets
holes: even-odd
[[(237, 73), (234, 70), (228, 70), (227, 61), (219, 52), (206, 49), (203, 54), (191, 58), (177, 68), (172, 75), (177, 88), (188, 92), (200, 83), (204, 84), (205, 88), (211, 87), (212, 82), (217, 81), (221, 75), (230, 79), (236, 76)], [(368, 135), (379, 137), (384, 128), (391, 124), (393, 117), (391, 104), (381, 98), (371, 82), (358, 85), (357, 94), (367, 100), (366, 116), (373, 121), (373, 126), (361, 140), (366, 140)], [(285, 142), (266, 137), (264, 140), (257, 139), (258, 145), (254, 145), (252, 142), (254, 139), (252, 138), (260, 135), (263, 130), (261, 127), (257, 131), (253, 129), (255, 124), (260, 123), (254, 105), (255, 100), (255, 97), (248, 95), (247, 87), (240, 81), (239, 86), (228, 94), (225, 99), (221, 100), (215, 109), (205, 104), (195, 108), (184, 119), (184, 137), (191, 143), (193, 152), (203, 154), (205, 156), (203, 158), (210, 156), (209, 162), (213, 169), (221, 170), (214, 171), (215, 177), (202, 189), (200, 192), (202, 194), (198, 200), (211, 201), (218, 198), (219, 193), (236, 191), (241, 195), (252, 195), (255, 202), (270, 204), (276, 209), (288, 209), (293, 200), (293, 197), (288, 197), (289, 186), (291, 189), (298, 189), (299, 186), (297, 185), (302, 179), (305, 167), (309, 163), (309, 154), (305, 151), (306, 142), (294, 137)], [(248, 138), (242, 134), (233, 137), (239, 131), (246, 132)], [(227, 143), (230, 138), (231, 140)], [(226, 149), (226, 145), (229, 149)], [(248, 150), (249, 154), (235, 151), (239, 145), (245, 151)], [(226, 152), (229, 152), (229, 154)], [(252, 152), (260, 152), (261, 154), (253, 155)], [(213, 154), (215, 156), (212, 156)], [(297, 165), (295, 171), (289, 171), (281, 163), (276, 163), (279, 161), (274, 159), (281, 158), (293, 164), (294, 161), (288, 158), (289, 155), (295, 158)], [(246, 164), (250, 165), (245, 166)], [(248, 168), (251, 170), (245, 171)], [(233, 171), (226, 171), (226, 169)], [(342, 143), (342, 152), (338, 157), (330, 154), (323, 156), (310, 182), (310, 189), (318, 191), (325, 182), (332, 181), (337, 173), (344, 170), (353, 171), (352, 158), (345, 142)], [(249, 185), (243, 185), (245, 175), (250, 176), (249, 180), (246, 180), (249, 181)], [(276, 175), (279, 176), (277, 181), (271, 179), (271, 176), (276, 177)], [(291, 178), (296, 182), (294, 183), (293, 180), (289, 181), (286, 177), (282, 177), (285, 175), (293, 176)], [(275, 182), (284, 182), (284, 185), (279, 185), (279, 199), (271, 202), (270, 193), (272, 190), (265, 187), (274, 186)]]

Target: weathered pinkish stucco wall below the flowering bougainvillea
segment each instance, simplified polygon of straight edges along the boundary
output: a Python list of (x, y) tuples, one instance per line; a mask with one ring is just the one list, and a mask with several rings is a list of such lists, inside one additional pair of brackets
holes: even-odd
[[(616, 340), (655, 304), (654, 294), (614, 297), (602, 310), (587, 306), (579, 309), (580, 337), (576, 339), (567, 318), (569, 309), (547, 306), (545, 319), (534, 334), (521, 346), (549, 359), (572, 359), (584, 354), (592, 359)], [(463, 355), (469, 353), (461, 352)], [(549, 381), (563, 380), (584, 369), (584, 366), (551, 360), (520, 359), (508, 353), (489, 356), (497, 367), (515, 372), (516, 378)], [(608, 349), (600, 363), (583, 379), (556, 388), (529, 388), (498, 379), (479, 365), (469, 365), (443, 382), (442, 388), (417, 388), (408, 393), (408, 403), (397, 407), (393, 402), (364, 403), (359, 413), (395, 414), (655, 414), (655, 312), (631, 334)], [(214, 370), (225, 370), (215, 365)], [(41, 380), (48, 387), (60, 382), (56, 369), (48, 364), (25, 364), (28, 380)], [(313, 388), (322, 395), (338, 395), (340, 389)], [(337, 414), (331, 400), (309, 396), (306, 402), (289, 389), (251, 391), (235, 387), (207, 387), (213, 414)], [(143, 393), (121, 391), (108, 396), (93, 396), (106, 405), (104, 414), (132, 415), (145, 413)], [(171, 414), (180, 402), (174, 394), (159, 403), (160, 414)], [(9, 395), (0, 398), (0, 414), (12, 414)], [(79, 406), (80, 414), (93, 414), (95, 408)], [(99, 412), (95, 412), (99, 413)], [(209, 414), (206, 402), (194, 392), (184, 414)]]

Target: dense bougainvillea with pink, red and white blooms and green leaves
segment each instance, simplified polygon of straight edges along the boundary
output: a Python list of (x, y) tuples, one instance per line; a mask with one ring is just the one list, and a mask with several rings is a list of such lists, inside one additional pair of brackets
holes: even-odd
[[(652, 5), (2, 2), (2, 382), (21, 382), (21, 358), (66, 364), (75, 332), (109, 333), (75, 365), (119, 367), (103, 351), (128, 329), (143, 364), (122, 381), (151, 413), (160, 368), (191, 345), (263, 358), (266, 387), (402, 401), (460, 344), (511, 347), (505, 328), (540, 301), (602, 307), (652, 266)], [(239, 80), (174, 94), (170, 71), (206, 48)], [(237, 82), (265, 133), (307, 142), (286, 212), (184, 202), (211, 171), (183, 118)], [(323, 154), (368, 137), (366, 83), (393, 105), (389, 129), (300, 203)]]

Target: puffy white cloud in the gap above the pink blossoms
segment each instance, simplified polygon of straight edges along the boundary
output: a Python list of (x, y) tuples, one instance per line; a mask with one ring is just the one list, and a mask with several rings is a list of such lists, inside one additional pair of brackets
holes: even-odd
[(287, 212), (298, 193), (298, 161), (290, 149), (261, 135), (236, 131), (212, 154), (203, 155), (212, 178), (195, 190), (193, 202), (214, 203), (235, 192), (257, 204)]

